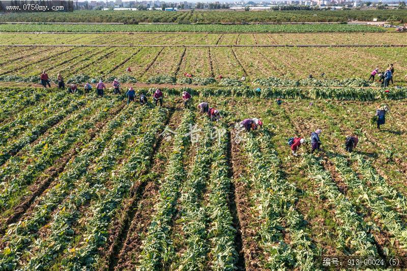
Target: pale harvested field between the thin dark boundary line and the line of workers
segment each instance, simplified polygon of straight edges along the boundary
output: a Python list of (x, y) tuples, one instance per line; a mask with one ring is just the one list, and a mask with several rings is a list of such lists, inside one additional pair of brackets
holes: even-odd
[[(38, 82), (42, 70), (51, 78), (61, 72), (66, 78), (85, 74), (111, 81), (130, 75), (140, 82), (151, 76), (169, 75), (181, 79), (184, 73), (196, 77), (240, 78), (247, 84), (270, 76), (304, 79), (363, 78), (375, 67), (389, 63), (396, 67), (394, 79), (405, 84), (406, 47), (7, 47), (21, 55), (6, 55), (0, 66), (1, 81)], [(36, 53), (37, 52), (37, 53)], [(361, 58), (361, 56), (364, 56)], [(127, 67), (131, 72), (127, 73)], [(325, 73), (324, 78), (320, 74)], [(79, 82), (83, 83), (83, 82)]]

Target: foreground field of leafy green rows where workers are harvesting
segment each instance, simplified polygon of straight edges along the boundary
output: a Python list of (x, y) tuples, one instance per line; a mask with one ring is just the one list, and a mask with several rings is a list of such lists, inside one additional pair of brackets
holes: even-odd
[[(315, 269), (321, 255), (405, 255), (405, 99), (279, 106), (273, 92), (189, 89), (184, 109), (175, 89), (163, 107), (0, 89), (2, 112), (21, 92), (38, 98), (0, 123), (2, 269)], [(220, 122), (197, 112), (201, 100)], [(391, 111), (377, 130), (383, 102)], [(237, 132), (248, 117), (263, 129)], [(190, 124), (198, 136), (186, 136)], [(306, 143), (291, 156), (287, 138), (317, 128), (323, 151)]]

